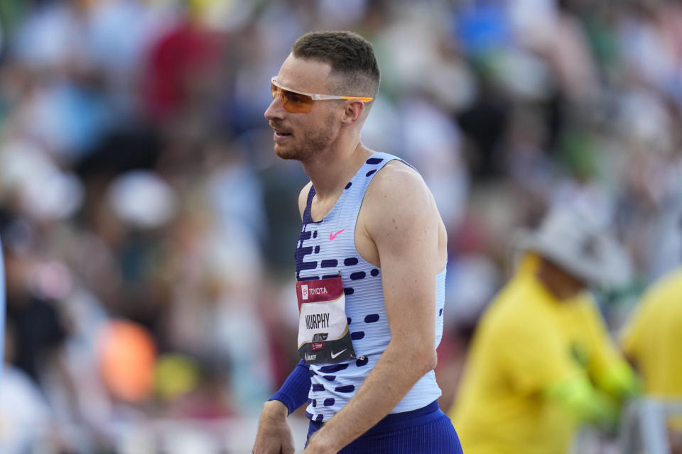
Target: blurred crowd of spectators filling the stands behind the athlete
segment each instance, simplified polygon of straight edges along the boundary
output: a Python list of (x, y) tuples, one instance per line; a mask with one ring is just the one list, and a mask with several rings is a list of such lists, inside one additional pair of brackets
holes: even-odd
[(614, 331), (682, 264), (679, 1), (30, 0), (0, 21), (4, 453), (123, 452), (121, 424), (254, 416), (286, 378), (308, 180), (263, 112), (305, 31), (374, 44), (363, 142), (421, 172), (448, 228), (441, 406), (551, 207), (627, 248), (632, 280), (599, 296)]

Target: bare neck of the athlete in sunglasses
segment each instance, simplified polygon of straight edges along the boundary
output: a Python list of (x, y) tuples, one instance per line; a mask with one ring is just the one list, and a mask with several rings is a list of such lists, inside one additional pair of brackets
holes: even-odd
[(352, 179), (362, 162), (372, 155), (358, 140), (352, 150), (337, 148), (320, 153), (316, 159), (302, 162), (303, 170), (315, 187), (320, 199), (333, 197)]

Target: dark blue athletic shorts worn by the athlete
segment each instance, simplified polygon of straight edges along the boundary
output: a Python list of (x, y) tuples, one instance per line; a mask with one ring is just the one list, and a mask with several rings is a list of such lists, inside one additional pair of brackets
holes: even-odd
[[(324, 423), (310, 421), (308, 438)], [(427, 406), (381, 419), (339, 454), (462, 454), (453, 423), (433, 401)]]

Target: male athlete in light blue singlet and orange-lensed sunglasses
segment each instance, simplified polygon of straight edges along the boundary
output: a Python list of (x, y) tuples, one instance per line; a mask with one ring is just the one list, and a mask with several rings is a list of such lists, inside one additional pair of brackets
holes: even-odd
[(433, 373), (445, 227), (419, 174), (360, 141), (379, 91), (372, 45), (307, 33), (271, 89), (275, 153), (310, 183), (294, 253), (301, 362), (264, 405), (253, 452), (293, 453), (286, 416), (307, 403), (305, 454), (461, 453)]

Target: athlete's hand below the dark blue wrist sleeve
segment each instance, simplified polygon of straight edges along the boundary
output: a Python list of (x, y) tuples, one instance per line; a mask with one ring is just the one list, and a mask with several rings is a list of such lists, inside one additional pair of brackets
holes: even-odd
[(286, 423), (288, 409), (278, 400), (266, 402), (258, 420), (253, 454), (293, 454), (293, 436)]

